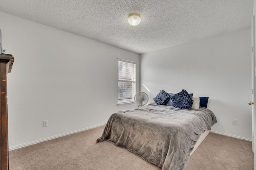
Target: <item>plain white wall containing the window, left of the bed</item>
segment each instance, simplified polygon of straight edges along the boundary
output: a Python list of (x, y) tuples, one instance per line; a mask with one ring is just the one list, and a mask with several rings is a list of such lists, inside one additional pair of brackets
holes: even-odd
[[(0, 12), (8, 74), (9, 147), (106, 123), (117, 106), (117, 57), (140, 55)], [(48, 127), (42, 121), (48, 120)], [(95, 139), (96, 141), (96, 139)]]

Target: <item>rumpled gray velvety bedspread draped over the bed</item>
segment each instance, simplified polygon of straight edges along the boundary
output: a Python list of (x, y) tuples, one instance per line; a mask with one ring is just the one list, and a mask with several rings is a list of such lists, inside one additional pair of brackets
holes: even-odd
[(149, 104), (113, 113), (101, 137), (162, 170), (183, 170), (196, 141), (217, 123), (209, 109)]

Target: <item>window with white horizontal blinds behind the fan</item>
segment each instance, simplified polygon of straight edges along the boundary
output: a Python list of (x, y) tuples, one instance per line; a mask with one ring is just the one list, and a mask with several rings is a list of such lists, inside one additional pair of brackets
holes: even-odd
[(118, 59), (118, 104), (134, 102), (136, 63)]

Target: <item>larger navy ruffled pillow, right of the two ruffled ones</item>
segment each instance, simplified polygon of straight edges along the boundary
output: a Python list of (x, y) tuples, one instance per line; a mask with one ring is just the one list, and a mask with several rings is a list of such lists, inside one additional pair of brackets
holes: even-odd
[(193, 105), (192, 98), (188, 95), (186, 90), (175, 94), (172, 98), (173, 106), (179, 109), (190, 109)]

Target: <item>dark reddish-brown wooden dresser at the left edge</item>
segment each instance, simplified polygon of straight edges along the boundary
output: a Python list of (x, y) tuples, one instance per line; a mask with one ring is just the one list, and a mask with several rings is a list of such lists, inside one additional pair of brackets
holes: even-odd
[(14, 57), (12, 55), (0, 55), (0, 71), (1, 71), (1, 97), (0, 97), (0, 170), (8, 170), (8, 115), (7, 115), (7, 74), (12, 70)]

